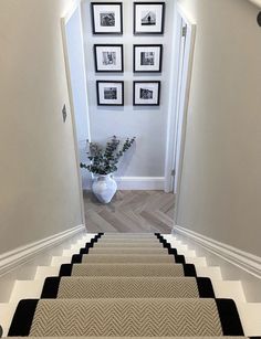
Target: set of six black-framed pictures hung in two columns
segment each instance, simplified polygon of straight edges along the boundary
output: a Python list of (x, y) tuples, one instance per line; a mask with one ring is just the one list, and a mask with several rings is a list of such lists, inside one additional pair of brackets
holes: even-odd
[[(133, 34), (163, 35), (165, 30), (166, 3), (133, 3)], [(96, 34), (123, 35), (123, 2), (91, 2), (92, 32)], [(135, 38), (136, 39), (136, 38)], [(95, 73), (124, 72), (124, 44), (95, 43)], [(134, 44), (133, 73), (148, 74), (163, 72), (163, 44)], [(160, 81), (134, 81), (134, 106), (159, 106)], [(124, 81), (96, 81), (98, 106), (124, 106)]]

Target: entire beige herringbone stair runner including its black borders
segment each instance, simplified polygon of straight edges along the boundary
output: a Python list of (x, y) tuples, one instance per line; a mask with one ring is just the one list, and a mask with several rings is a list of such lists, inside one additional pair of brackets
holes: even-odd
[(21, 300), (9, 337), (243, 337), (236, 304), (160, 234), (97, 234), (40, 299)]

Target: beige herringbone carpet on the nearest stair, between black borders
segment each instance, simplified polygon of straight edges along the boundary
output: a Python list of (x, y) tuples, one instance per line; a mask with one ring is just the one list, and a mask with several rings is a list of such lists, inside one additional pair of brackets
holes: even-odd
[(30, 336), (221, 336), (212, 299), (40, 300)]

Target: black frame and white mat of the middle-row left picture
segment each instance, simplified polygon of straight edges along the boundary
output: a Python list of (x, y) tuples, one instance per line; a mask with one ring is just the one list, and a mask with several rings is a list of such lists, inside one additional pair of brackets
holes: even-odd
[[(112, 66), (109, 63), (107, 65), (101, 65), (101, 59), (100, 55), (101, 51), (104, 49), (106, 52), (106, 49), (111, 50), (111, 52), (107, 51), (107, 53), (112, 53), (113, 49), (115, 49), (115, 53), (118, 51), (118, 55), (115, 56), (116, 65)], [(123, 44), (94, 44), (94, 66), (96, 73), (123, 73), (124, 72), (124, 46)], [(118, 61), (117, 57), (121, 60)], [(112, 60), (112, 57), (111, 57)]]

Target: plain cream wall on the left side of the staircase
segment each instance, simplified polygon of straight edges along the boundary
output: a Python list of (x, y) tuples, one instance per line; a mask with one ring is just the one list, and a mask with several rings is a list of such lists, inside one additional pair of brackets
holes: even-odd
[(60, 25), (72, 2), (0, 2), (0, 253), (82, 223)]

